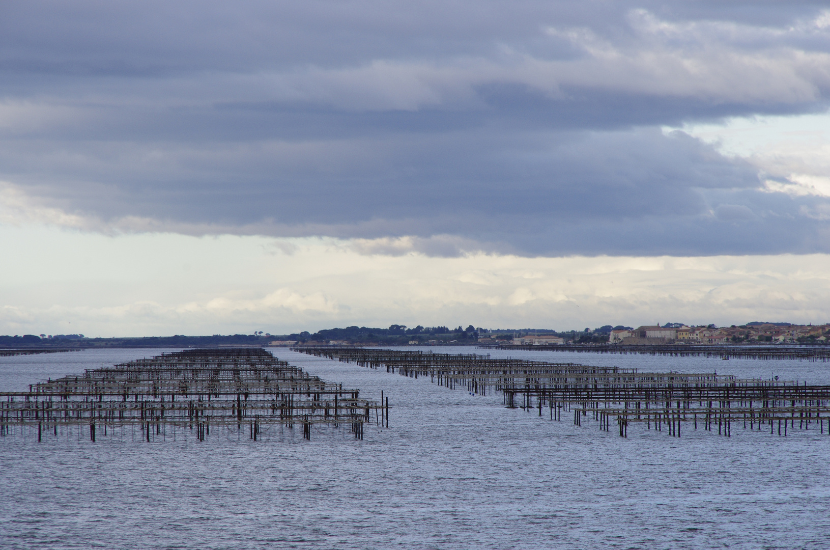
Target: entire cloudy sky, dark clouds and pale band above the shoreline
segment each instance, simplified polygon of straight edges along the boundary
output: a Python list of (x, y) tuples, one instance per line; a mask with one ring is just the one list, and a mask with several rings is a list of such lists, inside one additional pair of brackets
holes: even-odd
[(824, 6), (7, 0), (0, 332), (826, 321)]

